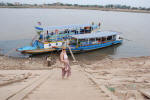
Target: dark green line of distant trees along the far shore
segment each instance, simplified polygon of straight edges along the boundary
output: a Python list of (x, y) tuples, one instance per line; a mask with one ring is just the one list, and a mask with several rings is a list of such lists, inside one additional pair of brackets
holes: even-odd
[(95, 8), (111, 8), (111, 9), (131, 9), (131, 10), (148, 10), (150, 11), (150, 8), (146, 7), (132, 7), (127, 5), (79, 5), (79, 4), (63, 4), (63, 3), (52, 3), (52, 4), (13, 4), (13, 3), (3, 3), (0, 2), (0, 6), (73, 6), (73, 7), (95, 7)]

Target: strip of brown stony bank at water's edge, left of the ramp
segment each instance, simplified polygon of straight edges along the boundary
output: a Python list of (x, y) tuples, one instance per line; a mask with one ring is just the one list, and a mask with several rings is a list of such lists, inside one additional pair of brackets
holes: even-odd
[[(54, 59), (52, 65), (55, 63)], [(0, 70), (45, 70), (49, 68), (45, 57), (17, 58), (0, 56)]]

